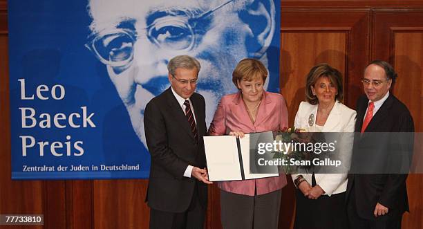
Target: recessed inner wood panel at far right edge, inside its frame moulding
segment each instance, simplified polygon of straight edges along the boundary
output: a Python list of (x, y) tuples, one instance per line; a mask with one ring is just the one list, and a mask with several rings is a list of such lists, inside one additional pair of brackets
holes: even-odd
[[(393, 64), (399, 75), (394, 92), (410, 109), (414, 119), (415, 131), (422, 132), (423, 28), (415, 28), (413, 33), (394, 32), (393, 35)], [(420, 151), (420, 154), (415, 155), (414, 160), (421, 161), (421, 154)], [(423, 228), (423, 196), (421, 192), (423, 175), (412, 174), (408, 176), (407, 182), (410, 214), (405, 214), (402, 225), (404, 228)]]

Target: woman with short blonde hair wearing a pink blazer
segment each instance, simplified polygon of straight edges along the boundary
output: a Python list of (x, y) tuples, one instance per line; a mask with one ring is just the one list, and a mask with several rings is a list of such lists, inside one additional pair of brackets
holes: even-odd
[[(243, 59), (232, 73), (238, 93), (220, 99), (209, 135), (232, 135), (279, 131), (288, 126), (285, 100), (279, 93), (263, 89), (265, 66), (256, 59)], [(245, 181), (223, 181), (220, 208), (223, 228), (277, 228), (281, 188), (286, 176)]]

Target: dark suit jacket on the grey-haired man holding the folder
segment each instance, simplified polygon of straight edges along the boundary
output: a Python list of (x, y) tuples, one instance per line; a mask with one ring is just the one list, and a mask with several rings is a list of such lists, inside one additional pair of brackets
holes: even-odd
[[(204, 207), (207, 205), (207, 185), (194, 177), (183, 176), (188, 165), (205, 167), (205, 100), (198, 93), (191, 95), (190, 100), (196, 117), (198, 143), (171, 88), (153, 98), (145, 108), (145, 136), (151, 154), (146, 197), (150, 208), (184, 212), (194, 193)], [(194, 192), (196, 186), (198, 189)]]

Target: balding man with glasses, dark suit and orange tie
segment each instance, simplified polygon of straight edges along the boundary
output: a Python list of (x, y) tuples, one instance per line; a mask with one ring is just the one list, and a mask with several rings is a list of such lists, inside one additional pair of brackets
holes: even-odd
[[(348, 176), (346, 193), (348, 220), (352, 229), (401, 228), (402, 214), (408, 211), (407, 174), (395, 170), (391, 164), (404, 161), (409, 165), (407, 151), (410, 148), (405, 147), (397, 155), (387, 151), (396, 146), (386, 132), (414, 131), (413, 118), (407, 107), (389, 93), (396, 77), (390, 64), (375, 60), (368, 64), (361, 80), (366, 96), (361, 96), (357, 101), (355, 132), (361, 134), (356, 135), (351, 165), (351, 170), (355, 170), (356, 174)], [(373, 137), (369, 137), (372, 134)], [(366, 151), (369, 146), (373, 149)], [(360, 153), (361, 158), (354, 159)], [(359, 166), (361, 169), (357, 170)], [(390, 166), (391, 170), (385, 172), (386, 167)], [(393, 174), (393, 171), (397, 172)]]

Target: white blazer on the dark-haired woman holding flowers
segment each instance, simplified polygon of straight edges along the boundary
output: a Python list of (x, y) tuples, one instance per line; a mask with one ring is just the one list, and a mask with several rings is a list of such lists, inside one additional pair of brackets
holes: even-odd
[[(314, 129), (316, 125), (318, 105), (312, 105), (308, 102), (301, 102), (297, 115), (295, 116), (294, 127), (306, 129), (306, 131), (316, 131)], [(312, 126), (309, 124), (309, 117), (313, 114), (314, 123)], [(323, 126), (323, 132), (354, 132), (355, 116), (357, 112), (353, 109), (346, 107), (341, 102), (336, 101), (335, 105), (330, 111), (328, 120), (326, 120)], [(353, 135), (351, 135), (353, 137)], [(341, 144), (342, 154), (348, 156), (346, 161), (350, 161), (350, 156), (353, 152), (353, 138), (343, 140)], [(343, 160), (344, 161), (344, 160)], [(291, 174), (292, 180), (294, 181), (299, 174)], [(301, 174), (308, 183), (312, 183), (312, 174)], [(319, 185), (325, 194), (328, 196), (346, 191), (347, 186), (347, 174), (314, 174), (316, 177), (316, 183)]]

